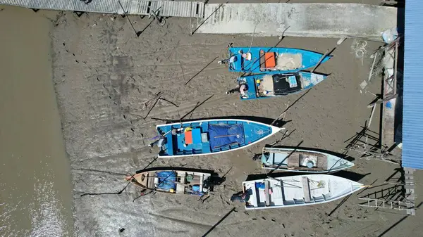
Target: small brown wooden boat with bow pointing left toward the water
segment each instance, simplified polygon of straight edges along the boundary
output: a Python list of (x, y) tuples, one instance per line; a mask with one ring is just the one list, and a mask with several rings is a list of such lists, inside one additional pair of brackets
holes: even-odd
[(161, 193), (207, 195), (212, 174), (187, 170), (149, 170), (125, 177), (140, 188)]

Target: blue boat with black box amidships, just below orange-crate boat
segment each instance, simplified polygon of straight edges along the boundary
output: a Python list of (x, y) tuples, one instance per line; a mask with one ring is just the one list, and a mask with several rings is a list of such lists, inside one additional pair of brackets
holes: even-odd
[(297, 94), (326, 79), (326, 75), (311, 72), (293, 72), (288, 74), (262, 74), (239, 77), (238, 84), (245, 85), (241, 100), (273, 98)]

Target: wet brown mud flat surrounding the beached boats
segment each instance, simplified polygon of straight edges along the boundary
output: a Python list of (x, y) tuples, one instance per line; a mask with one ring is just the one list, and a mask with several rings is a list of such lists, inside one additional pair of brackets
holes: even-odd
[[(271, 122), (288, 108), (283, 126), (289, 136), (281, 144), (342, 153), (345, 141), (364, 126), (371, 112), (367, 104), (374, 98), (360, 93), (359, 86), (368, 77), (372, 59), (355, 58), (351, 39), (317, 68), (316, 72), (330, 74), (317, 87), (286, 98), (241, 102), (238, 95), (225, 94), (239, 75), (217, 60), (226, 58), (228, 44), (249, 46), (251, 37), (190, 36), (188, 19), (168, 19), (159, 27), (147, 18), (129, 18), (136, 30), (142, 30), (140, 37), (135, 37), (128, 18), (102, 14), (78, 18), (63, 13), (52, 33), (54, 87), (71, 160), (76, 236), (202, 236), (212, 228), (208, 236), (378, 236), (403, 218), (363, 209), (356, 195), (339, 207), (341, 200), (245, 212), (241, 203), (231, 203), (231, 195), (240, 191), (249, 174), (264, 173), (252, 157), (283, 134), (219, 155), (155, 159), (157, 150), (147, 147), (157, 135), (155, 125), (166, 120), (242, 116)], [(255, 37), (253, 45), (275, 46), (278, 41)], [(278, 46), (324, 52), (336, 41), (286, 37)], [(378, 46), (368, 42), (367, 51)], [(368, 87), (374, 94), (380, 91), (376, 80)], [(164, 99), (149, 111), (158, 94)], [(374, 121), (378, 119), (375, 115)], [(378, 131), (377, 122), (371, 129)], [(397, 167), (355, 162), (345, 175), (374, 186), (384, 184)], [(160, 193), (137, 198), (140, 189), (133, 185), (121, 195), (80, 196), (120, 191), (126, 174), (147, 166), (210, 169), (227, 173), (226, 181), (204, 203), (197, 196)], [(417, 218), (408, 218), (388, 233), (418, 233), (410, 227), (415, 223)]]

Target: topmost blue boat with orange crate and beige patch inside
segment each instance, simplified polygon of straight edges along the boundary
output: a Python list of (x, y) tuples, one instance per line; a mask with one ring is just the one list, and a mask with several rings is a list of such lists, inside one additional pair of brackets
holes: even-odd
[[(322, 56), (304, 49), (231, 47), (227, 61), (230, 72), (289, 73), (314, 67)], [(321, 63), (329, 58), (325, 56)]]

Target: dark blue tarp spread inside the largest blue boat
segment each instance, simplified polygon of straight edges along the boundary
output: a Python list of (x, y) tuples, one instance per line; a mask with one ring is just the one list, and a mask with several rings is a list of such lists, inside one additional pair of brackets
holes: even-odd
[(245, 143), (243, 124), (209, 124), (209, 136), (212, 149)]

